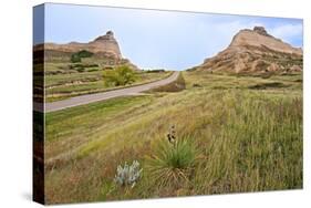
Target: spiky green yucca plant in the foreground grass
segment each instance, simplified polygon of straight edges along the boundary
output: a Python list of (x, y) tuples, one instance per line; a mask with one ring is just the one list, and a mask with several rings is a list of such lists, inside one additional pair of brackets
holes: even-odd
[(162, 141), (155, 155), (147, 158), (146, 169), (159, 187), (176, 187), (189, 180), (196, 158), (194, 141), (175, 137), (172, 143), (172, 136), (168, 136), (168, 142)]

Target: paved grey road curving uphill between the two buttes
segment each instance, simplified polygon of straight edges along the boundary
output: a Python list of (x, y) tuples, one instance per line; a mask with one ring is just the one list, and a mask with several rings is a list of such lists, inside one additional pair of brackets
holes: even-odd
[[(127, 87), (127, 89), (120, 89), (120, 90), (114, 90), (114, 91), (108, 91), (108, 92), (103, 92), (103, 93), (96, 93), (96, 94), (81, 95), (81, 96), (66, 98), (66, 100), (63, 100), (63, 101), (45, 103), (45, 111), (44, 112), (45, 113), (46, 112), (55, 112), (55, 111), (59, 111), (59, 110), (64, 110), (64, 108), (68, 108), (68, 107), (73, 107), (73, 106), (77, 106), (77, 105), (93, 103), (93, 102), (96, 102), (96, 101), (104, 101), (104, 100), (118, 97), (118, 96), (135, 95), (135, 94), (142, 93), (144, 91), (148, 91), (151, 89), (154, 89), (154, 87), (162, 86), (162, 85), (168, 84), (170, 82), (174, 82), (178, 77), (178, 74), (179, 74), (179, 72), (174, 72), (170, 76), (168, 76), (164, 80), (152, 82), (152, 83), (144, 84), (144, 85), (132, 86), (132, 87)], [(35, 105), (37, 104), (34, 104), (34, 108), (35, 108)]]

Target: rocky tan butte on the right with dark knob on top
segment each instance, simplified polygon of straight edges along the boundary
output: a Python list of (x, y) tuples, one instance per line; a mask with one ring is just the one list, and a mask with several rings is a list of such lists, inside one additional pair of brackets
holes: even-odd
[(242, 72), (302, 71), (302, 49), (270, 35), (263, 27), (240, 30), (227, 49), (195, 70)]

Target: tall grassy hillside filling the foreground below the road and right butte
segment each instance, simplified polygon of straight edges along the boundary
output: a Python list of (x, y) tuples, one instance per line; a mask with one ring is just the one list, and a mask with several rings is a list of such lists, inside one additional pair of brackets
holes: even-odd
[[(178, 92), (48, 113), (46, 202), (302, 188), (301, 74), (183, 80)], [(139, 179), (117, 185), (117, 166), (133, 160)]]

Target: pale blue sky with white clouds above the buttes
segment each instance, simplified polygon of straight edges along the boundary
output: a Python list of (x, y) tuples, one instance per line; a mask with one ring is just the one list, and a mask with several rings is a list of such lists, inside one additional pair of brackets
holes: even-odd
[[(41, 42), (90, 42), (112, 30), (122, 55), (141, 69), (186, 70), (226, 49), (241, 29), (262, 25), (268, 33), (303, 46), (301, 19), (123, 9), (48, 3), (34, 10), (34, 30), (44, 19)], [(34, 34), (38, 32), (34, 32)]]

